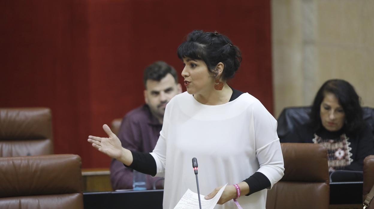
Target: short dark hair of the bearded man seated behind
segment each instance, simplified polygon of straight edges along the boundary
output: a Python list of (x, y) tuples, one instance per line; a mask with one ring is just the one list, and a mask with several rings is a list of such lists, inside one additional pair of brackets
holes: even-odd
[(147, 89), (148, 79), (160, 81), (161, 79), (165, 78), (165, 76), (168, 73), (170, 73), (174, 77), (175, 83), (178, 83), (177, 72), (172, 66), (168, 65), (166, 62), (156, 61), (148, 65), (144, 69), (144, 75), (143, 75), (143, 82), (144, 82), (145, 89)]

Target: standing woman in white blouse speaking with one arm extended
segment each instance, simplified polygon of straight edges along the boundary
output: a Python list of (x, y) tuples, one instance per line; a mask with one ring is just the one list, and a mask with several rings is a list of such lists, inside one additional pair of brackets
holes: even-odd
[(239, 68), (239, 49), (223, 34), (195, 30), (178, 47), (178, 58), (187, 92), (166, 106), (152, 153), (123, 148), (107, 125), (108, 138), (89, 136), (88, 141), (125, 166), (164, 176), (165, 209), (196, 188), (193, 157), (199, 160), (205, 199), (228, 183), (216, 208), (236, 208), (233, 199), (242, 208), (265, 208), (266, 188), (283, 176), (283, 157), (274, 117), (254, 96), (226, 83)]

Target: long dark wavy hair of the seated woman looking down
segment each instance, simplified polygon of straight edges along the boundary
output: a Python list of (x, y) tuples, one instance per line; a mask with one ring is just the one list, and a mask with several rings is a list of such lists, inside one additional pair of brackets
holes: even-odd
[(319, 88), (310, 112), (311, 125), (316, 129), (321, 127), (320, 108), (327, 93), (334, 94), (341, 107), (343, 107), (346, 118), (344, 132), (347, 136), (355, 135), (359, 130), (361, 130), (364, 119), (362, 116), (360, 98), (357, 95), (355, 88), (345, 80), (328, 80), (321, 86), (321, 88)]

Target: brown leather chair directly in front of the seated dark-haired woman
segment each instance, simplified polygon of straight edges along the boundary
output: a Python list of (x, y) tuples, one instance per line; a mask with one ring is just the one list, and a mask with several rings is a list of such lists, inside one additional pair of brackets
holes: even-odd
[(281, 143), (284, 176), (267, 192), (266, 209), (328, 209), (327, 150), (320, 144)]

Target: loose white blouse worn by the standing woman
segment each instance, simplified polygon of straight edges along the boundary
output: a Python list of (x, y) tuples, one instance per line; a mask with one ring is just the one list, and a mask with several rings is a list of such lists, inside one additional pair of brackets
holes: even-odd
[[(192, 158), (199, 164), (200, 194), (263, 173), (271, 187), (283, 176), (277, 122), (258, 99), (243, 93), (222, 105), (204, 105), (187, 92), (166, 106), (163, 127), (151, 155), (156, 176), (165, 177), (163, 208), (172, 209), (189, 188), (197, 193)], [(265, 208), (267, 190), (238, 200), (242, 208)], [(233, 200), (217, 209), (236, 208)]]

